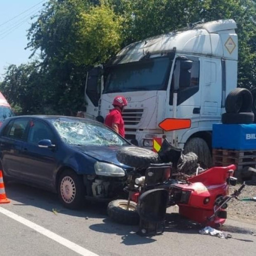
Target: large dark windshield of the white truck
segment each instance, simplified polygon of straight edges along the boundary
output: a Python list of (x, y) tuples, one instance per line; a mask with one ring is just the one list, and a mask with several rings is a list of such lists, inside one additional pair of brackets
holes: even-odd
[(172, 60), (158, 57), (113, 66), (109, 70), (103, 94), (166, 90)]

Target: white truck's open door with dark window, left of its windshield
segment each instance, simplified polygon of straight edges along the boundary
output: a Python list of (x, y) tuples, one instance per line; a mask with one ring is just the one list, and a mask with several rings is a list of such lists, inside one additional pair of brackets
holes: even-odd
[(91, 117), (99, 115), (98, 104), (103, 90), (102, 71), (101, 67), (97, 67), (87, 73), (84, 100), (86, 101), (86, 113)]

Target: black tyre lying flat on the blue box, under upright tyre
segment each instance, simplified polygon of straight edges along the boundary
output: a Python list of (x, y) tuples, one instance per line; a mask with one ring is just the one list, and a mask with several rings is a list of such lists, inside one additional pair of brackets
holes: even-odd
[(223, 113), (222, 123), (225, 124), (249, 124), (254, 122), (254, 114), (251, 113)]

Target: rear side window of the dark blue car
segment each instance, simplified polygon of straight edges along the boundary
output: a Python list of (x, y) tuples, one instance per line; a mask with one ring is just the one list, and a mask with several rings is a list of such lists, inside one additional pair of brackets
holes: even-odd
[(4, 136), (11, 139), (25, 140), (28, 121), (29, 119), (16, 119), (10, 122), (4, 131)]

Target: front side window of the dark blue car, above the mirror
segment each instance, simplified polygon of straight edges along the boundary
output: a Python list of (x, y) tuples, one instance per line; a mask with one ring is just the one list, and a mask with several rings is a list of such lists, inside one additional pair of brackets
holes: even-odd
[(40, 140), (44, 139), (49, 139), (52, 142), (54, 141), (54, 135), (50, 126), (39, 120), (31, 120), (28, 142), (37, 145)]

